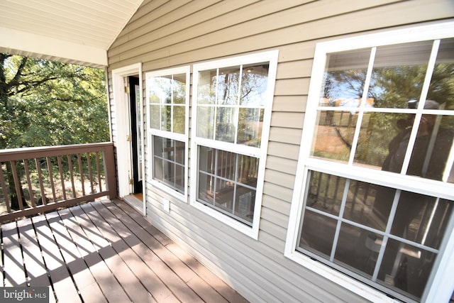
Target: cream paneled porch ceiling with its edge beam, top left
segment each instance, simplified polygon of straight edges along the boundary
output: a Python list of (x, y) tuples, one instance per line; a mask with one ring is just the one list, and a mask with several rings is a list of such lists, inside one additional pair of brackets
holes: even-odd
[(1, 0), (0, 52), (106, 66), (106, 50), (142, 2)]

